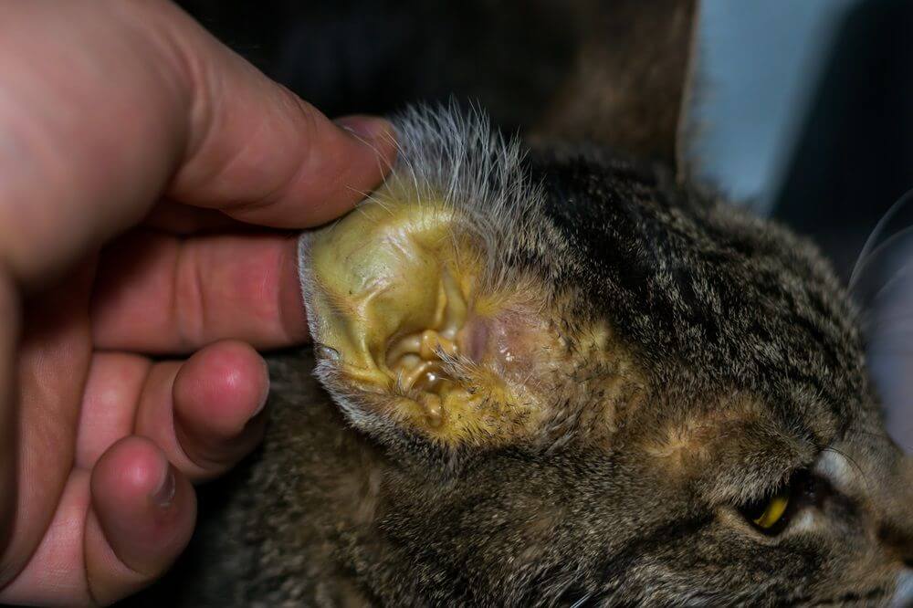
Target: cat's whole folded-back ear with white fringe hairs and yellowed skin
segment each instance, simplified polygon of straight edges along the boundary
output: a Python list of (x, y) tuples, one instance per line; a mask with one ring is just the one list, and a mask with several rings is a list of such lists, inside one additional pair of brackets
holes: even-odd
[(382, 442), (610, 433), (638, 373), (606, 320), (557, 286), (573, 254), (517, 143), (441, 109), (411, 110), (396, 128), (383, 186), (300, 240), (316, 373), (335, 402)]

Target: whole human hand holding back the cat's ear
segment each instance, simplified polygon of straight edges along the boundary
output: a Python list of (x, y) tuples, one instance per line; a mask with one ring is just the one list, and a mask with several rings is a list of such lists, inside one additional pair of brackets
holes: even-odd
[(394, 162), (165, 0), (0, 0), (0, 603), (112, 603), (259, 441), (289, 230)]

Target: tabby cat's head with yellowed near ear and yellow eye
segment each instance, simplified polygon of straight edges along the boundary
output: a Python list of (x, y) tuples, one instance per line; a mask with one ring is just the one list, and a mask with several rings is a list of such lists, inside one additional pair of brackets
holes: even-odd
[(300, 247), (317, 374), (387, 463), (341, 550), (372, 592), (913, 593), (913, 466), (813, 246), (602, 149), (447, 110), (396, 129), (383, 187)]

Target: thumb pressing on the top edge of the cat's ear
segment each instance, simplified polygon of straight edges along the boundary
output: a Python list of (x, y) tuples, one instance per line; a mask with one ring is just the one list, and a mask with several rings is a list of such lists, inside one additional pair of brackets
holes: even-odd
[(173, 5), (159, 8), (158, 23), (142, 23), (174, 58), (193, 110), (174, 199), (247, 222), (302, 228), (348, 211), (383, 179), (395, 155), (386, 121), (331, 122)]

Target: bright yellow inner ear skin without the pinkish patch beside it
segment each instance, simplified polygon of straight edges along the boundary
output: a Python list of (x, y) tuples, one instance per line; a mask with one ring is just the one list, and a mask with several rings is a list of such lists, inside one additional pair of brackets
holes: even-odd
[(478, 292), (482, 257), (445, 204), (382, 190), (308, 238), (313, 338), (339, 353), (364, 406), (383, 395), (378, 404), (395, 404), (385, 414), (447, 444), (490, 445), (530, 422), (530, 396), (487, 364), (478, 310), (497, 307)]

